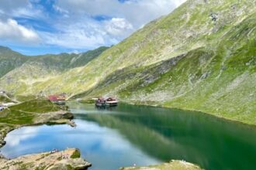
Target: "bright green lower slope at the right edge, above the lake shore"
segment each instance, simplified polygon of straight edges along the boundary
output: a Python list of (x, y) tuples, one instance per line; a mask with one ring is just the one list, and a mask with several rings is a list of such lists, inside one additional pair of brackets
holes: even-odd
[(256, 13), (235, 26), (220, 41), (209, 65), (209, 73), (189, 93), (164, 103), (168, 107), (202, 110), (236, 121), (256, 124)]

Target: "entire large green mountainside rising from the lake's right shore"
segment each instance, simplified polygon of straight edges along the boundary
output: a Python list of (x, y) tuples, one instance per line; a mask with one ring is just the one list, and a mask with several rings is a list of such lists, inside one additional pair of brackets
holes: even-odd
[(254, 0), (188, 0), (85, 66), (26, 83), (19, 77), (8, 83), (16, 76), (8, 73), (0, 83), (16, 94), (108, 95), (256, 124), (255, 6)]

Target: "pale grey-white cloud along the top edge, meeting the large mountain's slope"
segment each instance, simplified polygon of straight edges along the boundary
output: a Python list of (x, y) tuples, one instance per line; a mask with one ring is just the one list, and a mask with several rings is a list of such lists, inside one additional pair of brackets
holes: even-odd
[(124, 18), (135, 28), (167, 15), (185, 0), (138, 0), (120, 3), (117, 0), (57, 0), (56, 5), (74, 15), (109, 15)]

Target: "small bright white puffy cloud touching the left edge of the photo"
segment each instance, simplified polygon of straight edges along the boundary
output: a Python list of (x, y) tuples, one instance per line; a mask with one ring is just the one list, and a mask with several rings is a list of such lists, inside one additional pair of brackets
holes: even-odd
[(0, 38), (8, 42), (39, 42), (40, 38), (33, 29), (19, 25), (16, 20), (0, 20)]

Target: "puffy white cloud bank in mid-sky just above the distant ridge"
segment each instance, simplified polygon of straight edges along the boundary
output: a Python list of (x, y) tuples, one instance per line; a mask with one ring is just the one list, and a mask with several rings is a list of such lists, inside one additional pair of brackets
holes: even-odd
[[(73, 22), (70, 22), (72, 20)], [(94, 49), (116, 44), (129, 36), (133, 26), (126, 19), (113, 18), (97, 22), (89, 17), (63, 20), (54, 25), (58, 32), (40, 32), (44, 42), (71, 49)]]

